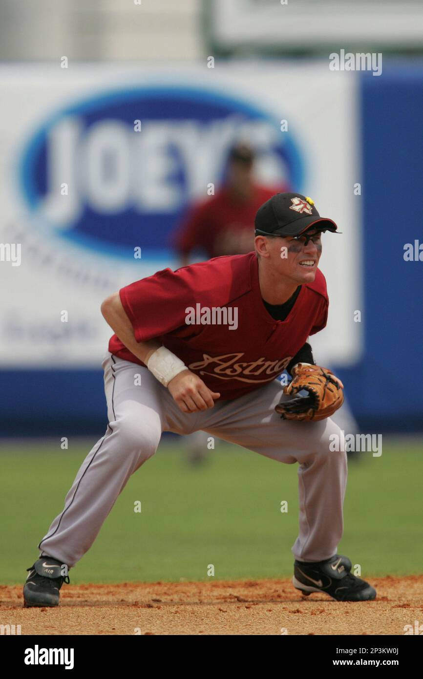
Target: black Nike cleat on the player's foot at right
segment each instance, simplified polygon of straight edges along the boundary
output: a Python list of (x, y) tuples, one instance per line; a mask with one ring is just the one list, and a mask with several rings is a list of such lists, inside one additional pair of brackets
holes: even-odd
[(374, 587), (352, 575), (351, 566), (350, 559), (339, 554), (313, 564), (295, 561), (293, 585), (306, 596), (312, 592), (323, 592), (336, 601), (375, 599)]

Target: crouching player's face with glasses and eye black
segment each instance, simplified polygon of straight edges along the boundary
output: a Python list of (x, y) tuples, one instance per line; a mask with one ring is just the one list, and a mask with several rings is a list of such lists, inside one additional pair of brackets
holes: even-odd
[(278, 273), (301, 283), (313, 282), (322, 254), (320, 232), (300, 236), (300, 238), (272, 239), (272, 262)]

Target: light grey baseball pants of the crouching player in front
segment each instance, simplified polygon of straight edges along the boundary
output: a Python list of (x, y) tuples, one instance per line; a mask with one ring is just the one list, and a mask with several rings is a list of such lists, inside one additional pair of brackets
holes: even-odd
[[(316, 562), (337, 552), (347, 462), (344, 451), (329, 450), (329, 436), (339, 435), (333, 420), (281, 420), (274, 411), (283, 397), (278, 380), (234, 401), (216, 401), (213, 408), (186, 414), (147, 368), (108, 352), (103, 369), (109, 425), (82, 463), (65, 508), (39, 543), (40, 555), (74, 566), (90, 549), (130, 475), (155, 453), (162, 432), (187, 435), (198, 430), (278, 462), (298, 462), (299, 535), (293, 555)], [(141, 385), (134, 384), (137, 373)]]

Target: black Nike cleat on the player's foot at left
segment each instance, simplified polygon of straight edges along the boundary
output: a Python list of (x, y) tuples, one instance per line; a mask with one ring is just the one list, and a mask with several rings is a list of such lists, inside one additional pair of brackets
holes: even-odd
[(29, 570), (29, 576), (24, 585), (24, 606), (58, 606), (60, 587), (64, 582), (69, 585), (67, 566), (50, 556), (43, 556), (26, 570)]

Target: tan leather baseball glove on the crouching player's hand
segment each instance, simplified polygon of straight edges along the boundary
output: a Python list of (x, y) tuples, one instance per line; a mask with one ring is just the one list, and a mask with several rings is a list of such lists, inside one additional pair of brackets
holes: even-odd
[[(282, 420), (325, 420), (344, 403), (342, 382), (335, 378), (331, 370), (318, 365), (297, 363), (291, 374), (292, 382), (284, 388), (284, 394), (293, 398), (282, 401), (275, 407)], [(302, 390), (306, 390), (308, 394), (299, 395)]]

